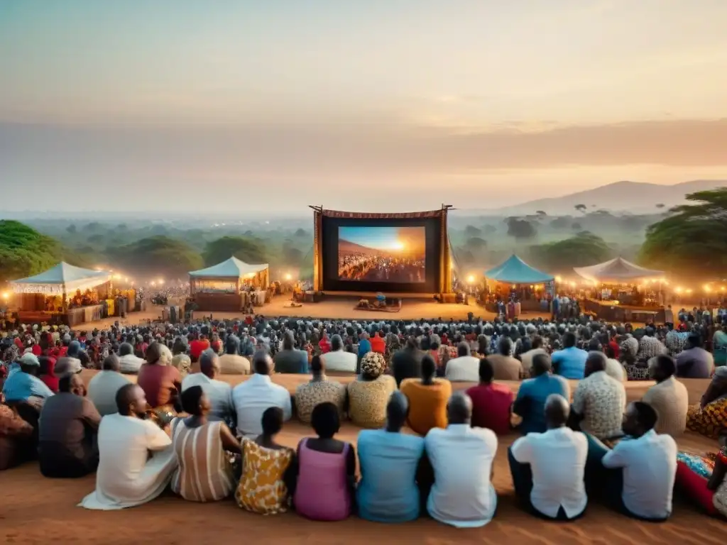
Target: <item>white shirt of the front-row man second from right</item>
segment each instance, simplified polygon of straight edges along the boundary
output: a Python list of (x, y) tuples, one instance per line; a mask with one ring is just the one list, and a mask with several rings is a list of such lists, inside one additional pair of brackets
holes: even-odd
[(563, 507), (566, 516), (576, 517), (586, 508), (583, 475), (588, 456), (588, 441), (581, 432), (567, 427), (529, 433), (513, 443), (513, 457), (530, 464), (533, 489), (530, 501), (547, 517), (558, 517)]

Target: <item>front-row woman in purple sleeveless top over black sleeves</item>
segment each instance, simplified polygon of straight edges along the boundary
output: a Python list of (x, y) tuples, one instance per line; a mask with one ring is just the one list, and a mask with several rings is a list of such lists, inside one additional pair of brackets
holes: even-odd
[(310, 423), (318, 437), (298, 443), (295, 510), (310, 520), (344, 520), (353, 508), (356, 451), (350, 443), (335, 438), (340, 420), (333, 403), (316, 405)]

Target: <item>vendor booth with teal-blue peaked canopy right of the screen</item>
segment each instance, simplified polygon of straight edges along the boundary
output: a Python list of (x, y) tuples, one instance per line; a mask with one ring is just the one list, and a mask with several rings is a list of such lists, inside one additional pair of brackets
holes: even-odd
[(548, 312), (553, 299), (553, 275), (531, 267), (513, 254), (485, 273), (485, 307), (498, 312), (498, 302), (507, 304), (507, 316), (516, 318), (523, 310)]

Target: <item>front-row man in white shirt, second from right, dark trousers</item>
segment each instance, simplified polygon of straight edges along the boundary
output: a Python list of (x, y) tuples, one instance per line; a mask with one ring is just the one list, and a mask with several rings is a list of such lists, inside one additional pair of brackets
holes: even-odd
[(545, 400), (547, 432), (529, 433), (507, 453), (515, 494), (535, 514), (552, 520), (574, 520), (587, 504), (584, 474), (588, 441), (566, 427), (570, 407), (565, 397)]

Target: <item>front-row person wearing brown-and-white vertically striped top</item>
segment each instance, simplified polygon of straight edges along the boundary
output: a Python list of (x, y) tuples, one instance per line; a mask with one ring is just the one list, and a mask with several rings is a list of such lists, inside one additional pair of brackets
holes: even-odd
[[(217, 358), (217, 354), (212, 355)], [(204, 358), (203, 352), (200, 360)], [(227, 452), (240, 453), (240, 443), (225, 422), (209, 420), (212, 402), (203, 387), (182, 390), (182, 409), (189, 416), (177, 417), (171, 424), (177, 455), (172, 492), (188, 501), (225, 499), (235, 486)]]

